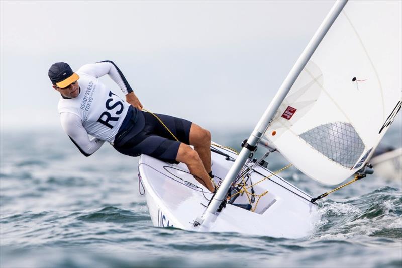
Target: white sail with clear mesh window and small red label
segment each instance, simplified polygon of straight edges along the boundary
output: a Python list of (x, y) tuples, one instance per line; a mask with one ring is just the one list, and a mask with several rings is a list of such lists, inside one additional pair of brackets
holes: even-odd
[(350, 1), (265, 137), (328, 185), (364, 166), (402, 103), (402, 2)]

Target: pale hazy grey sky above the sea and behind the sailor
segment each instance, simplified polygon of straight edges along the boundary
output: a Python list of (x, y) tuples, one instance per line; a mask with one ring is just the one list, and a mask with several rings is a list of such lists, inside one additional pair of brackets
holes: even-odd
[(252, 128), (333, 3), (2, 1), (1, 127), (60, 127), (50, 65), (112, 60), (150, 111)]

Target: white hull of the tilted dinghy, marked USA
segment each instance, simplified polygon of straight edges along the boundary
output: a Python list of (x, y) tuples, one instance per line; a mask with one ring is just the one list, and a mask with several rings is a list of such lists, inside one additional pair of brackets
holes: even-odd
[[(216, 148), (236, 158), (233, 152)], [(216, 176), (214, 180), (217, 185), (233, 164), (225, 158), (212, 153), (212, 171)], [(261, 166), (254, 170), (251, 174), (253, 184), (272, 173)], [(255, 198), (252, 203), (254, 212), (227, 204), (220, 213), (215, 213), (208, 226), (202, 224), (194, 227), (193, 221), (204, 213), (212, 193), (195, 180), (183, 163), (173, 165), (141, 155), (139, 173), (154, 226), (300, 238), (311, 234), (315, 222), (319, 219), (317, 206), (310, 202), (311, 196), (283, 178), (273, 175), (254, 185), (257, 195), (269, 191), (260, 200)], [(235, 203), (249, 203), (249, 198), (244, 194), (239, 196)]]

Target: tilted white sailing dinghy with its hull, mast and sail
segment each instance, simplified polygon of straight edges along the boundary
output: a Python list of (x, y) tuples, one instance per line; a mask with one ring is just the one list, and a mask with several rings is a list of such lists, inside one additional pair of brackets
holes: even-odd
[[(141, 155), (152, 223), (202, 232), (298, 238), (318, 220), (316, 199), (266, 168), (279, 151), (326, 185), (364, 177), (402, 104), (402, 2), (337, 1), (239, 154), (211, 146), (215, 195), (180, 164)], [(268, 144), (253, 159), (257, 145)], [(236, 203), (250, 204), (248, 209)]]

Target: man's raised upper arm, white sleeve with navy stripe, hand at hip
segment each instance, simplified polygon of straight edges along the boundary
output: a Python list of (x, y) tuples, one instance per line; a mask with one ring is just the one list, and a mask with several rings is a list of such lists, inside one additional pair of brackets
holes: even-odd
[(102, 77), (109, 74), (109, 77), (121, 88), (123, 93), (126, 95), (126, 101), (132, 106), (142, 109), (142, 104), (138, 100), (137, 96), (134, 94), (130, 84), (127, 82), (123, 73), (116, 66), (113, 61), (105, 60), (92, 64), (86, 64), (82, 66), (78, 72), (84, 72), (96, 78)]

